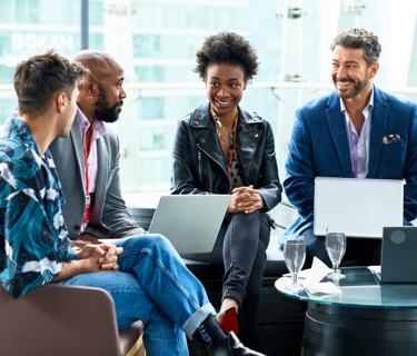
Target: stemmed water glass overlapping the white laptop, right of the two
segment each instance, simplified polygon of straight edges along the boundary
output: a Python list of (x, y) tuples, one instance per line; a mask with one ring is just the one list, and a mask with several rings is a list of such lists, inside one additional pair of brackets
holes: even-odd
[(341, 227), (330, 226), (326, 229), (326, 250), (334, 269), (328, 276), (335, 280), (345, 278), (345, 275), (339, 269), (340, 261), (346, 251), (346, 235)]

